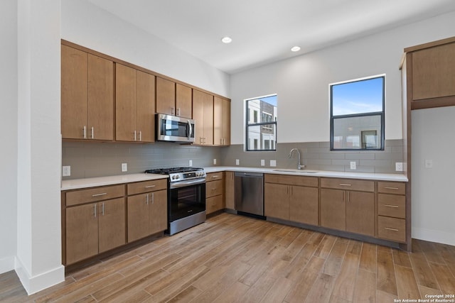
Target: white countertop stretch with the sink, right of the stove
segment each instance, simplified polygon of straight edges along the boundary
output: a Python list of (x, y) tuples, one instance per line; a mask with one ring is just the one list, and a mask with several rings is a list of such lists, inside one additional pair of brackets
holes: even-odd
[[(263, 172), (267, 174), (295, 175), (309, 177), (340, 177), (348, 179), (365, 179), (378, 181), (408, 182), (402, 174), (381, 174), (375, 172), (335, 172), (328, 170), (289, 170), (285, 168), (240, 167), (240, 166), (211, 166), (204, 167), (205, 172)], [(277, 171), (279, 170), (279, 171)]]

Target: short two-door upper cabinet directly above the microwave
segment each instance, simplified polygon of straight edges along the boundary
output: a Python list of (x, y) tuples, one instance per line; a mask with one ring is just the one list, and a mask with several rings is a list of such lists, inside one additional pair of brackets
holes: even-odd
[(156, 112), (192, 118), (191, 87), (156, 77)]

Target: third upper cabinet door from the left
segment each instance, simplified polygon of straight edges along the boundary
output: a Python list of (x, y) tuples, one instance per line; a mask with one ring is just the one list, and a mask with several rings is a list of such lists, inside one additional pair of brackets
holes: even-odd
[(137, 71), (115, 65), (115, 140), (134, 141), (137, 113)]

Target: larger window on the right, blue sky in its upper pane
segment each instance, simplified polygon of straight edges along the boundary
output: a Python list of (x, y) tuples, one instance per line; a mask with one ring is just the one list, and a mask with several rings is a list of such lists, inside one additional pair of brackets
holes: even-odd
[(385, 75), (330, 84), (331, 150), (384, 150)]

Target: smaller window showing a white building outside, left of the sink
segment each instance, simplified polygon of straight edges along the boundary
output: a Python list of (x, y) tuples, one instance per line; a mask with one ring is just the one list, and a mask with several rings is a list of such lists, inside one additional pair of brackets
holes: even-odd
[(247, 99), (245, 104), (245, 150), (276, 150), (277, 95)]

